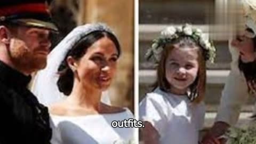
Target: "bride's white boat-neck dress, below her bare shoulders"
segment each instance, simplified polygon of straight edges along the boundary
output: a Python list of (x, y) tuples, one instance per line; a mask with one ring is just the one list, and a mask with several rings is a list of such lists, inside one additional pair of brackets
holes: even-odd
[(52, 144), (129, 143), (133, 140), (132, 127), (112, 127), (113, 121), (133, 118), (129, 109), (121, 113), (87, 116), (51, 115)]

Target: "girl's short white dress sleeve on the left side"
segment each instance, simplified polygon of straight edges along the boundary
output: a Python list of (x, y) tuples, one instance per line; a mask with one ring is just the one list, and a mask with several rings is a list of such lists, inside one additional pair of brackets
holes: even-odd
[(147, 94), (140, 102), (140, 121), (151, 123), (160, 135), (165, 133), (167, 111), (164, 101), (156, 94)]

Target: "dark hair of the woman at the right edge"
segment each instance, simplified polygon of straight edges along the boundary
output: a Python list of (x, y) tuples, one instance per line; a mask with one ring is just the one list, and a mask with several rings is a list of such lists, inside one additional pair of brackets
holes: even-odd
[[(247, 31), (254, 33), (252, 29), (246, 28)], [(252, 38), (254, 52), (256, 51), (256, 36)], [(248, 83), (256, 83), (256, 61), (244, 63), (239, 57), (238, 60), (238, 68), (241, 70), (245, 76), (246, 82)], [(248, 87), (249, 92), (251, 91), (250, 87)]]

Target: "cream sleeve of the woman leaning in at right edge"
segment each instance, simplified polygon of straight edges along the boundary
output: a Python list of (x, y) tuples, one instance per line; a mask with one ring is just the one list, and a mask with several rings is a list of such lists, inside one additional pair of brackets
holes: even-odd
[(238, 57), (235, 48), (230, 48), (233, 61), (231, 70), (222, 91), (220, 106), (215, 121), (235, 125), (242, 105), (249, 97), (244, 75), (238, 69)]

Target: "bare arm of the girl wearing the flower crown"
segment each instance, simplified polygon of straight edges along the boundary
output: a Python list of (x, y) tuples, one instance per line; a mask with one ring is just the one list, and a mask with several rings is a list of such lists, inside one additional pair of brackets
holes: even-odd
[(144, 125), (145, 127), (142, 128), (143, 142), (147, 144), (158, 144), (160, 136), (155, 127), (149, 122), (144, 122)]

